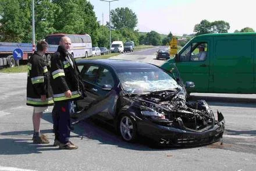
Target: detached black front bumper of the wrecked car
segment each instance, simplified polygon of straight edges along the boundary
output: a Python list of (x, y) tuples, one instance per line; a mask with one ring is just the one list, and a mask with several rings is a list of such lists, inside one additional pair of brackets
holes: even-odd
[(154, 143), (158, 145), (187, 147), (207, 145), (219, 141), (225, 130), (225, 119), (201, 132), (188, 130), (186, 127), (161, 126), (144, 119), (140, 120), (137, 126), (139, 134), (154, 140)]

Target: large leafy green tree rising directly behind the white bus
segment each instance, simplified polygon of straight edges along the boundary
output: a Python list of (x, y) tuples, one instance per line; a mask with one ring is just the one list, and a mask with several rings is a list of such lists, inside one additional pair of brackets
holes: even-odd
[(54, 28), (61, 33), (90, 34), (97, 45), (99, 23), (93, 5), (87, 0), (52, 0), (58, 5)]

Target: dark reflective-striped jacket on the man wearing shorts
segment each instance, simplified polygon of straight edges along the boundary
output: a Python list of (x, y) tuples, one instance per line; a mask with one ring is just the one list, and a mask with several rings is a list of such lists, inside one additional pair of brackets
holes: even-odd
[[(47, 63), (38, 52), (27, 61), (27, 105), (50, 106), (54, 104)], [(46, 101), (41, 100), (46, 95)]]

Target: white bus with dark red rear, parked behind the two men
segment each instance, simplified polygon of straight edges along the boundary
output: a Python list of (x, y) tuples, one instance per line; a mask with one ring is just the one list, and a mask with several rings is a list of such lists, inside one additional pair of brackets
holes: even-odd
[(91, 36), (88, 34), (51, 34), (45, 38), (45, 41), (49, 44), (49, 54), (57, 51), (59, 41), (61, 37), (67, 36), (70, 38), (72, 45), (70, 48), (70, 54), (74, 58), (92, 56), (92, 43)]

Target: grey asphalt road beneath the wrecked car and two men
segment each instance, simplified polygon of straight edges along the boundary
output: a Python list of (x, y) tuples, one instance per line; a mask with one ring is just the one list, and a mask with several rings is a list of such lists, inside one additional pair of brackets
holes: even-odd
[[(142, 59), (143, 56), (146, 58)], [(155, 60), (154, 54), (129, 53), (118, 57), (164, 62)], [(223, 113), (226, 131), (222, 145), (154, 149), (148, 147), (148, 140), (125, 143), (112, 127), (88, 119), (74, 127), (71, 140), (79, 149), (69, 151), (52, 147), (52, 108), (41, 121), (41, 132), (47, 134), (51, 144), (32, 143), (32, 108), (25, 105), (26, 77), (26, 73), (0, 73), (0, 170), (254, 171), (256, 168), (255, 94), (191, 94), (192, 100), (206, 99), (215, 113), (217, 110)]]

